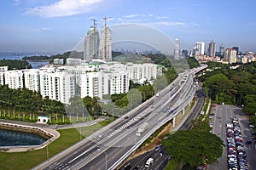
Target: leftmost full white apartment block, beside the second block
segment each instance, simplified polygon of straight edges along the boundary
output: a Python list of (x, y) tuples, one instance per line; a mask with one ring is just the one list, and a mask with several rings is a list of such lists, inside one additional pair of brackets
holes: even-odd
[(9, 88), (24, 88), (23, 72), (21, 70), (4, 71), (4, 80)]

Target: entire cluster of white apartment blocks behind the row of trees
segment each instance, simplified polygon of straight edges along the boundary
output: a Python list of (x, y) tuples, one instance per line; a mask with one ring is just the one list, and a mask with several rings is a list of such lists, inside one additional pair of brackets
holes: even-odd
[(128, 93), (130, 80), (141, 83), (148, 80), (151, 83), (161, 73), (160, 65), (151, 63), (46, 65), (40, 69), (0, 71), (0, 84), (8, 84), (9, 88), (39, 91), (43, 98), (49, 97), (68, 104), (79, 87), (82, 98), (97, 96), (102, 99), (104, 94)]

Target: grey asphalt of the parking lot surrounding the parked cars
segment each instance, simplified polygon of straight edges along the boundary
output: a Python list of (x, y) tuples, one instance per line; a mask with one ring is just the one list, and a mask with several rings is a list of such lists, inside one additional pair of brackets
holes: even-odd
[[(241, 111), (241, 108), (233, 105), (215, 105), (212, 107), (212, 133), (220, 137), (224, 144), (226, 142), (226, 124), (232, 122), (232, 118), (238, 118), (241, 127), (241, 137), (243, 139), (244, 148), (247, 154), (247, 162), (249, 169), (256, 169), (256, 150), (253, 144), (245, 144), (246, 141), (252, 140), (252, 130), (248, 128), (247, 116)], [(211, 170), (228, 169), (227, 167), (227, 148), (224, 147), (222, 157), (218, 159), (218, 163), (210, 165)]]

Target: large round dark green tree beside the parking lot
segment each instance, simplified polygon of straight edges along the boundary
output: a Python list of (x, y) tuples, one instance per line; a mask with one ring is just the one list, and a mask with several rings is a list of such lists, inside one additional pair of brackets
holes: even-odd
[(167, 137), (162, 144), (166, 146), (168, 155), (183, 165), (195, 167), (204, 162), (212, 164), (222, 155), (223, 141), (201, 129), (177, 131), (167, 134)]

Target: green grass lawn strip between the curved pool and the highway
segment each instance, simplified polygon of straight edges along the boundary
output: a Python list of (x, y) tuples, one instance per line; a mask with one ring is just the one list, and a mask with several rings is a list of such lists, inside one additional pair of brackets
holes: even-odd
[[(67, 149), (69, 146), (79, 142), (80, 138), (89, 136), (91, 133), (100, 129), (102, 126), (106, 126), (109, 121), (102, 121), (96, 123), (90, 127), (81, 127), (83, 135), (79, 134), (78, 129), (63, 129), (58, 130), (61, 133), (61, 137), (48, 145), (49, 157), (55, 156), (55, 154), (61, 152), (61, 150)], [(28, 152), (15, 152), (6, 153), (0, 152), (0, 169), (31, 169), (37, 166), (39, 163), (47, 159), (47, 148), (41, 150), (33, 150)]]

